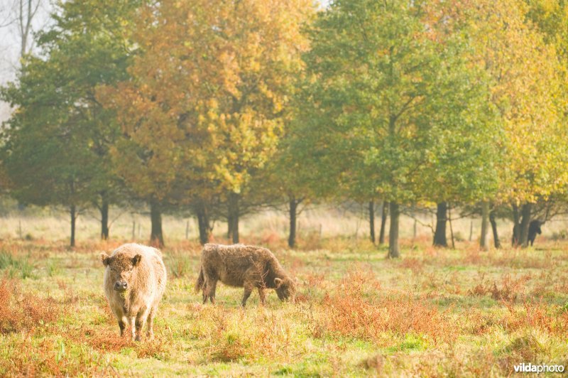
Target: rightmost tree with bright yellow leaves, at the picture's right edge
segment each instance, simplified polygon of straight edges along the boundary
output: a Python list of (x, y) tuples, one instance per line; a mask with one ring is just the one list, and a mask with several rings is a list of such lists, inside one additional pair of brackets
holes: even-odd
[(478, 1), (460, 8), (475, 25), (479, 65), (492, 77), (491, 101), (503, 122), (506, 156), (497, 202), (513, 207), (513, 242), (526, 246), (533, 204), (567, 183), (562, 66), (523, 1)]

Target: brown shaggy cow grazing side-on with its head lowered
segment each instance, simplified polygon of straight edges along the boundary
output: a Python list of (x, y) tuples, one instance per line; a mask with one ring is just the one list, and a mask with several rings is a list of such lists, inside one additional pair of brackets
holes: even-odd
[(200, 275), (195, 291), (202, 290), (203, 303), (207, 298), (215, 303), (217, 281), (244, 288), (241, 305), (246, 305), (254, 288), (258, 289), (261, 304), (266, 300), (266, 289), (273, 288), (280, 301), (293, 300), (296, 285), (286, 274), (278, 259), (266, 248), (243, 244), (205, 244), (201, 254)]

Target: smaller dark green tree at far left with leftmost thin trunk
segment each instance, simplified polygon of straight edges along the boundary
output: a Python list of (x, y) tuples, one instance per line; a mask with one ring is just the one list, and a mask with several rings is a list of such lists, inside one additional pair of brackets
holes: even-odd
[[(21, 202), (64, 205), (70, 212), (70, 246), (75, 246), (75, 222), (94, 197), (97, 162), (87, 146), (89, 130), (75, 126), (77, 112), (61, 112), (72, 103), (68, 93), (47, 91), (66, 81), (65, 71), (31, 58), (21, 68), (18, 83), (2, 90), (3, 99), (18, 108), (4, 129), (3, 165), (11, 194)], [(37, 91), (35, 88), (43, 88)]]

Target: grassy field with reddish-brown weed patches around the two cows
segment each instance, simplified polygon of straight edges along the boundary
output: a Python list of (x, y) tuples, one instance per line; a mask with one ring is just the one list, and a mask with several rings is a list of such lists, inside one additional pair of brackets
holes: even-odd
[(0, 376), (283, 374), (501, 376), (520, 362), (568, 365), (568, 244), (479, 252), (403, 241), (403, 258), (352, 239), (273, 249), (296, 303), (219, 286), (193, 292), (200, 247), (165, 248), (155, 340), (119, 337), (99, 252), (119, 242), (0, 242)]

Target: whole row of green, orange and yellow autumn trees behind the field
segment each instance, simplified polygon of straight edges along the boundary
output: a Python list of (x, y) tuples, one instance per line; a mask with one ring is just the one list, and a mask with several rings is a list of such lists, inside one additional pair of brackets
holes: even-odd
[[(498, 218), (527, 244), (568, 193), (568, 4), (561, 0), (82, 0), (59, 4), (1, 89), (1, 185), (21, 203), (147, 206), (214, 220), (312, 202)], [(384, 229), (386, 217), (390, 229)]]

